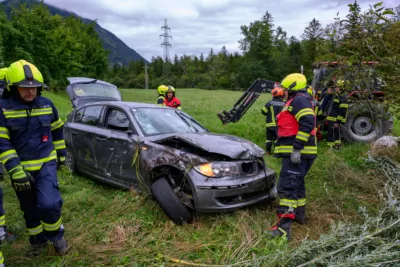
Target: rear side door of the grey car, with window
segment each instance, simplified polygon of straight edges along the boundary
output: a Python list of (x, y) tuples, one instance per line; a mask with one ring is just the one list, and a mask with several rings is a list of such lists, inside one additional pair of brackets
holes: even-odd
[(73, 126), (70, 126), (76, 166), (89, 175), (97, 172), (98, 158), (94, 144), (97, 141), (97, 132), (101, 129), (99, 126), (103, 109), (104, 105), (93, 105), (77, 110)]

